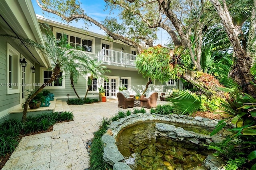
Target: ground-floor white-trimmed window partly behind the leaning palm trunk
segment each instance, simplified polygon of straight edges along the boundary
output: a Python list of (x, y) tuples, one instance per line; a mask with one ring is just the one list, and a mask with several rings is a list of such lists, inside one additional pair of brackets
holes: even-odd
[[(43, 83), (46, 83), (48, 80), (50, 80), (52, 76), (53, 70), (47, 70), (44, 67), (40, 67), (40, 84), (41, 86)], [(64, 75), (64, 71), (60, 71), (60, 74), (57, 76), (57, 78), (52, 82), (46, 85), (46, 89), (65, 89), (65, 79), (62, 78)]]

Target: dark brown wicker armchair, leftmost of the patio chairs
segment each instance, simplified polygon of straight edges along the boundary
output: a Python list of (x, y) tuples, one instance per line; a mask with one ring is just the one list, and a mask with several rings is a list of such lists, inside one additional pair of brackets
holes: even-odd
[(128, 90), (123, 90), (117, 93), (118, 107), (126, 109), (128, 107), (134, 107), (134, 95), (130, 95)]

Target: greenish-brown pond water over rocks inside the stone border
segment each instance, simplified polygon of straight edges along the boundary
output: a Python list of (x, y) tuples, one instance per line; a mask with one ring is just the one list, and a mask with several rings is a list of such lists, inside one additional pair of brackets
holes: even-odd
[[(203, 146), (156, 136), (155, 123), (156, 121), (135, 123), (121, 130), (116, 137), (118, 150), (133, 170), (186, 170), (200, 166), (207, 155), (212, 153)], [(166, 124), (200, 134), (210, 134), (212, 131), (206, 127), (169, 122)]]

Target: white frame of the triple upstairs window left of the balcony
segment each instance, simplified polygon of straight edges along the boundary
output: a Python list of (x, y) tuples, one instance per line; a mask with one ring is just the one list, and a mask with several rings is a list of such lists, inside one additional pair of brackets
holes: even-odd
[(79, 34), (79, 33), (76, 33), (76, 32), (70, 32), (70, 31), (62, 30), (62, 29), (55, 28), (55, 27), (52, 30), (53, 30), (54, 36), (56, 36), (57, 32), (68, 35), (68, 43), (69, 44), (70, 44), (70, 36), (81, 38), (80, 45), (82, 45), (82, 40), (84, 40), (84, 39), (91, 40), (92, 41), (92, 52), (82, 51), (82, 50), (79, 50), (79, 51), (82, 51), (82, 52), (88, 53), (88, 54), (95, 54), (95, 38), (94, 37), (86, 36), (84, 34)]

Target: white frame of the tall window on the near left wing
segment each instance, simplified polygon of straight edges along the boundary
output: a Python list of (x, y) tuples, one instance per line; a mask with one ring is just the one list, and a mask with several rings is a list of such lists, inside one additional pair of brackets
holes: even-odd
[[(10, 69), (10, 58), (12, 56), (12, 87), (9, 86), (10, 83), (10, 76), (9, 76), (9, 69)], [(16, 50), (12, 45), (7, 43), (7, 70), (6, 70), (6, 88), (7, 94), (15, 94), (20, 93), (20, 53)]]

